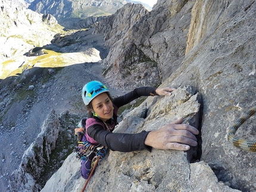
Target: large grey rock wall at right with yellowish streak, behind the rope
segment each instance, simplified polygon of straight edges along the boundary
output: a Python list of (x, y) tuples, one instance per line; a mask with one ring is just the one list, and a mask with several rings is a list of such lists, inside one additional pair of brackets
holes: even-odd
[[(241, 191), (256, 190), (255, 153), (236, 149), (227, 129), (255, 106), (255, 11), (252, 1), (197, 1), (188, 39), (188, 53), (169, 82), (191, 83), (202, 94), (202, 157), (218, 180)], [(208, 8), (208, 9), (207, 9)], [(208, 16), (200, 15), (208, 12)], [(199, 14), (199, 15), (198, 15)], [(213, 21), (215, 20), (215, 21)], [(214, 24), (213, 24), (214, 23)], [(199, 40), (199, 39), (201, 40)], [(197, 42), (197, 39), (199, 42)], [(255, 138), (255, 117), (236, 133)]]

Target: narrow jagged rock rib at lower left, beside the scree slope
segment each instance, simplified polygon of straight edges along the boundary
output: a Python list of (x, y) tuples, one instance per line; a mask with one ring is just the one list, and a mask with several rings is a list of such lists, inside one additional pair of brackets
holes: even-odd
[(49, 162), (49, 155), (55, 149), (60, 129), (60, 121), (55, 112), (51, 111), (42, 125), (41, 133), (24, 152), (20, 167), (10, 177), (12, 191), (40, 191), (40, 185), (36, 181)]

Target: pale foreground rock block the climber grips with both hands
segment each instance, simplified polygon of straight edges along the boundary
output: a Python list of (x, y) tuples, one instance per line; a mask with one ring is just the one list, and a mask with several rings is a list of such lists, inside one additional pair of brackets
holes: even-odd
[[(172, 96), (148, 97), (142, 105), (124, 117), (114, 132), (139, 133), (142, 130), (157, 130), (176, 119), (177, 114), (184, 114), (187, 117), (185, 122), (192, 122), (196, 127), (199, 121), (196, 114), (200, 109), (198, 99), (198, 92), (191, 86), (174, 90)], [(139, 117), (145, 106), (148, 108), (147, 117)], [(193, 118), (194, 121), (191, 121)], [(194, 152), (193, 149), (188, 153), (157, 149), (152, 149), (151, 153), (146, 150), (129, 153), (110, 151), (110, 154), (99, 162), (86, 190), (189, 191), (189, 160)], [(66, 177), (60, 177), (67, 172), (69, 173)], [(42, 191), (80, 191), (84, 184), (85, 180), (80, 177), (80, 162), (71, 154)]]

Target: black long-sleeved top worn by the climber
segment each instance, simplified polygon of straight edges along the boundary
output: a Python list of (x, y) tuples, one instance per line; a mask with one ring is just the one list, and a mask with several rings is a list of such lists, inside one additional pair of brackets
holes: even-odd
[(126, 105), (132, 100), (137, 99), (141, 96), (154, 96), (156, 88), (154, 87), (140, 87), (126, 95), (119, 96), (113, 99), (113, 106), (117, 107), (115, 119), (108, 119), (107, 125), (112, 128), (111, 131), (107, 131), (105, 126), (97, 124), (97, 122), (102, 122), (101, 119), (93, 117), (95, 119), (95, 124), (90, 125), (87, 128), (89, 137), (93, 138), (98, 143), (107, 146), (111, 150), (117, 150), (119, 152), (132, 152), (136, 150), (146, 149), (151, 151), (150, 146), (145, 145), (146, 136), (148, 136), (149, 131), (142, 131), (136, 134), (126, 134), (126, 133), (112, 133), (114, 130), (117, 118), (117, 111), (120, 106)]

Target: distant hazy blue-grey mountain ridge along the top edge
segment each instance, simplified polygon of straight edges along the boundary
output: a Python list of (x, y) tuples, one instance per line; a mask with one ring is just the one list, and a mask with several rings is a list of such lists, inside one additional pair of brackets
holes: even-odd
[[(58, 20), (61, 26), (66, 29), (87, 28), (102, 17), (114, 14), (115, 11), (123, 7), (127, 3), (143, 4), (139, 1), (121, 0), (86, 0), (71, 1), (62, 0), (56, 2), (54, 0), (35, 0), (30, 2), (29, 9), (42, 13), (52, 14)], [(149, 5), (143, 4), (146, 8), (151, 9)]]

